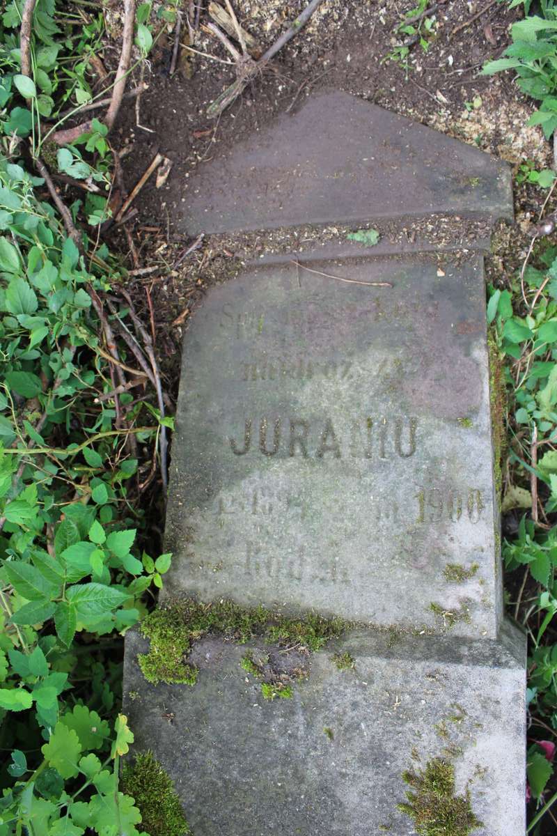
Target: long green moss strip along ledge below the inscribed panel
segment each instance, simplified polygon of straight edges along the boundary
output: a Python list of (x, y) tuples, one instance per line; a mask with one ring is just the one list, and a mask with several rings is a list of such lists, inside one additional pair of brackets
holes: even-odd
[(154, 609), (141, 622), (141, 633), (149, 639), (150, 647), (148, 653), (138, 655), (139, 667), (145, 679), (154, 685), (161, 681), (195, 685), (198, 670), (188, 662), (188, 655), (194, 642), (204, 635), (221, 635), (239, 644), (262, 636), (271, 644), (315, 651), (342, 635), (347, 626), (342, 619), (325, 619), (316, 613), (291, 619), (263, 607), (250, 609), (232, 601), (203, 604), (185, 599)]

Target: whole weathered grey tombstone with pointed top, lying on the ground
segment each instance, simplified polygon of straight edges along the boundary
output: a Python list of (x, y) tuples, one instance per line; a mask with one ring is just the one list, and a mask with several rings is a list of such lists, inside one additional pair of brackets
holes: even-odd
[(183, 212), (190, 235), (237, 236), (245, 267), (185, 334), (162, 603), (352, 626), (273, 701), (246, 647), (213, 637), (195, 686), (150, 685), (132, 631), (136, 748), (195, 836), (428, 833), (441, 766), (462, 818), (434, 832), (522, 836), (525, 649), (502, 611), (483, 269), (513, 217), (507, 166), (325, 94), (200, 166)]

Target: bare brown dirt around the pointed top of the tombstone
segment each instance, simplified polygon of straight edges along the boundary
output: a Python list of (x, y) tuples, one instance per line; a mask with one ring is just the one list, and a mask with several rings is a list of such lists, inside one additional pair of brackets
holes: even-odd
[[(242, 25), (261, 48), (273, 43), (287, 21), (305, 5), (306, 0), (234, 3)], [(517, 92), (509, 74), (479, 76), (483, 64), (503, 52), (509, 43), (509, 27), (520, 15), (519, 9), (509, 11), (506, 4), (495, 4), (463, 26), (484, 5), (462, 0), (439, 4), (428, 35), (428, 50), (419, 43), (413, 45), (405, 66), (405, 60), (393, 59), (392, 54), (405, 37), (396, 30), (403, 14), (414, 7), (413, 0), (326, 0), (306, 28), (292, 38), (219, 120), (207, 118), (206, 110), (234, 81), (234, 67), (182, 50), (179, 69), (170, 78), (174, 35), (163, 34), (149, 57), (145, 72), (149, 90), (142, 95), (139, 110), (140, 124), (152, 132), (136, 125), (134, 104), (129, 103), (121, 115), (114, 144), (130, 147), (124, 157), (129, 186), (139, 179), (155, 152), (160, 151), (173, 162), (165, 186), (155, 188), (152, 178), (134, 203), (141, 219), (136, 222), (134, 237), (139, 238), (142, 252), (149, 252), (167, 273), (138, 279), (136, 295), (146, 317), (152, 314), (171, 390), (175, 390), (179, 376), (182, 328), (206, 284), (230, 274), (235, 261), (230, 248), (217, 246), (218, 242), (213, 246), (205, 239), (173, 269), (190, 242), (174, 229), (170, 207), (180, 201), (190, 172), (200, 161), (210, 159), (217, 146), (225, 149), (261, 130), (276, 115), (296, 110), (307, 95), (340, 89), (478, 145), (514, 166), (527, 159), (538, 168), (550, 164), (549, 143), (539, 128), (525, 126), (531, 103)], [(203, 8), (200, 23), (209, 19)], [(185, 43), (185, 36), (181, 40)], [(201, 29), (193, 46), (220, 61), (230, 59), (221, 44)], [(536, 187), (526, 185), (515, 193), (522, 232), (537, 217), (543, 199), (540, 195)], [(512, 239), (514, 266), (516, 236)], [(510, 254), (499, 254), (492, 260), (491, 280), (504, 280), (510, 259)]]

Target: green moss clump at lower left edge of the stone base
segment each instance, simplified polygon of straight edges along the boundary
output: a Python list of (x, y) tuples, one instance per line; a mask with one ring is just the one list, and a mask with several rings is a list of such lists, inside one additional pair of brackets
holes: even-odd
[(172, 778), (153, 752), (142, 752), (132, 764), (124, 766), (122, 789), (134, 798), (142, 830), (149, 836), (185, 836), (191, 832)]

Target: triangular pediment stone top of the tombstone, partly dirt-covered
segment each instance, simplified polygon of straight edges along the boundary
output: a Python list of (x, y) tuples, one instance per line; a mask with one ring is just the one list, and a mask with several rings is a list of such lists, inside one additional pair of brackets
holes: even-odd
[(176, 222), (197, 235), (431, 212), (512, 218), (510, 182), (483, 151), (335, 92), (200, 166)]

